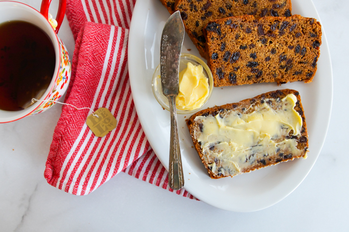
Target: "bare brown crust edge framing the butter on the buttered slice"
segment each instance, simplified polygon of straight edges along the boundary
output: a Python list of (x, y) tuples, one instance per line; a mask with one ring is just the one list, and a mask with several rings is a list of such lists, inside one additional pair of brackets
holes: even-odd
[[(307, 151), (308, 151), (308, 131), (307, 131), (307, 124), (306, 124), (306, 118), (304, 115), (304, 110), (303, 110), (303, 106), (301, 103), (301, 97), (299, 95), (299, 93), (296, 90), (291, 90), (291, 89), (284, 89), (284, 90), (276, 90), (276, 91), (272, 91), (272, 92), (268, 92), (265, 94), (261, 94), (259, 96), (256, 96), (254, 98), (250, 98), (250, 99), (245, 99), (242, 100), (238, 103), (231, 103), (231, 104), (226, 104), (223, 106), (218, 106), (218, 107), (213, 107), (213, 108), (209, 108), (200, 112), (195, 113), (194, 115), (190, 116), (187, 120), (186, 120), (186, 125), (189, 129), (189, 133), (191, 136), (191, 139), (193, 141), (195, 150), (197, 151), (203, 165), (205, 166), (205, 168), (207, 169), (208, 175), (212, 178), (212, 179), (218, 179), (218, 178), (223, 178), (225, 176), (223, 175), (216, 175), (214, 174), (209, 166), (208, 163), (205, 162), (204, 160), (204, 154), (202, 153), (201, 150), (201, 144), (197, 141), (197, 139), (194, 137), (194, 131), (195, 131), (195, 127), (197, 128), (198, 124), (197, 122), (194, 120), (196, 116), (208, 116), (208, 115), (212, 115), (215, 116), (217, 114), (219, 114), (219, 112), (221, 110), (235, 110), (235, 111), (240, 111), (241, 113), (243, 113), (243, 109), (248, 109), (248, 107), (256, 102), (260, 102), (260, 101), (264, 101), (264, 99), (277, 99), (277, 98), (284, 98), (289, 94), (294, 94), (297, 97), (297, 103), (295, 106), (295, 110), (299, 113), (299, 115), (302, 117), (302, 121), (303, 121), (303, 126), (301, 129), (301, 135), (298, 136), (297, 138), (297, 148), (299, 150), (302, 150), (301, 154), (299, 156), (281, 156), (281, 152), (277, 153), (277, 155), (270, 157), (269, 159), (265, 159), (263, 162), (256, 162), (256, 164), (250, 166), (249, 168), (245, 169), (245, 170), (241, 170), (241, 173), (246, 173), (246, 172), (251, 172), (253, 170), (256, 169), (260, 169), (263, 167), (267, 167), (270, 165), (275, 165), (278, 164), (280, 162), (285, 162), (288, 160), (293, 160), (294, 158), (300, 158), (300, 157), (305, 157)], [(292, 136), (292, 135), (289, 135)]]

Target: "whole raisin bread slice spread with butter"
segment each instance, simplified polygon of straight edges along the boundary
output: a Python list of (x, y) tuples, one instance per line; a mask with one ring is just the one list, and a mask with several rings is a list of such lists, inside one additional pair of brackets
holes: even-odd
[(307, 157), (307, 125), (295, 90), (277, 90), (206, 109), (186, 123), (212, 179)]

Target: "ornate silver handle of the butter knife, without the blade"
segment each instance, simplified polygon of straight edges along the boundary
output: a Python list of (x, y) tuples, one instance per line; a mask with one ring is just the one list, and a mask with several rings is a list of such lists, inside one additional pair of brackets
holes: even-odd
[(175, 110), (175, 95), (167, 96), (171, 113), (171, 137), (170, 137), (170, 165), (169, 186), (173, 190), (179, 190), (184, 186), (182, 161), (180, 158), (177, 114)]

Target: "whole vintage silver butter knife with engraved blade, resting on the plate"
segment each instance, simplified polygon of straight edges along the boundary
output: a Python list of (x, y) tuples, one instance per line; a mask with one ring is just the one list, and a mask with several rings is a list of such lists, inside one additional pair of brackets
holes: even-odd
[(175, 97), (179, 92), (179, 59), (184, 39), (184, 25), (179, 11), (167, 20), (161, 36), (160, 66), (163, 94), (169, 99), (171, 113), (169, 186), (174, 190), (184, 186), (180, 158)]

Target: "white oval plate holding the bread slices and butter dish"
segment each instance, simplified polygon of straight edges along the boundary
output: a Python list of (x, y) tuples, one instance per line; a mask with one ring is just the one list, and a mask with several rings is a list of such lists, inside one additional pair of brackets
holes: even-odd
[[(311, 0), (292, 0), (292, 13), (320, 17)], [(163, 110), (152, 92), (152, 75), (160, 63), (160, 38), (170, 14), (159, 0), (136, 2), (129, 34), (129, 74), (137, 114), (145, 134), (160, 161), (168, 169), (170, 147), (170, 113)], [(191, 49), (188, 51), (187, 49)], [(224, 210), (250, 212), (265, 209), (288, 196), (304, 180), (317, 160), (329, 126), (333, 77), (329, 47), (323, 30), (318, 71), (310, 84), (303, 82), (277, 86), (275, 83), (214, 88), (207, 107), (236, 103), (277, 89), (300, 92), (309, 133), (308, 158), (280, 163), (233, 178), (211, 179), (192, 140), (185, 117), (177, 115), (184, 170), (184, 188), (196, 198)], [(200, 57), (185, 35), (182, 52)]]

